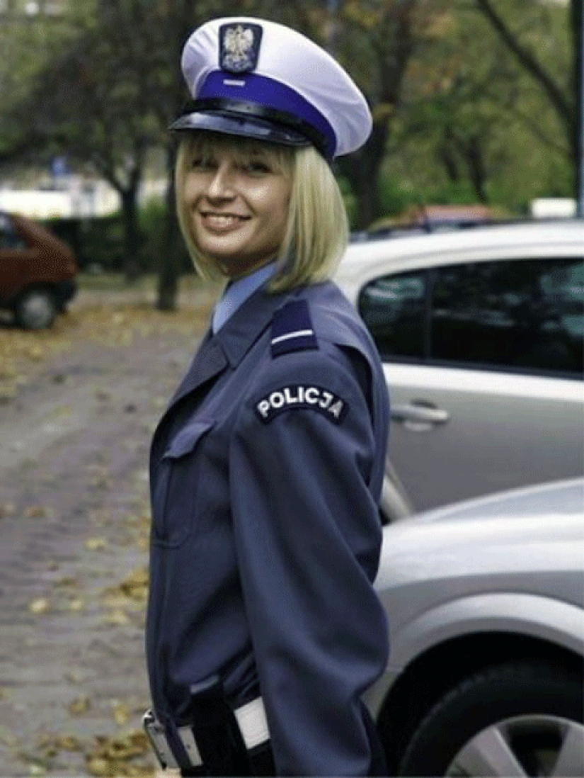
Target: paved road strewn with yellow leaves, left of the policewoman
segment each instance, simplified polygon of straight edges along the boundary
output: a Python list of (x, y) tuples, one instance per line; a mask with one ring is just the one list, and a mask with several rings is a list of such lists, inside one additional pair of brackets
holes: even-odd
[(153, 774), (146, 468), (212, 296), (195, 298), (165, 318), (80, 295), (56, 335), (26, 334), (35, 359), (0, 395), (0, 776)]

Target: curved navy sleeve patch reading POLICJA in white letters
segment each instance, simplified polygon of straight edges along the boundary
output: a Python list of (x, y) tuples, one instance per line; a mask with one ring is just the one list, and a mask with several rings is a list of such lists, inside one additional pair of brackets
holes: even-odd
[(254, 405), (257, 418), (264, 424), (284, 411), (309, 408), (330, 422), (340, 424), (348, 412), (348, 404), (337, 394), (314, 384), (290, 384), (266, 394)]

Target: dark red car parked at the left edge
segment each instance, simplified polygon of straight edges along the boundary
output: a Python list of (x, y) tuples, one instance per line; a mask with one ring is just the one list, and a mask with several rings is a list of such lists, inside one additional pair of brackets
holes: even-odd
[(0, 308), (27, 329), (49, 327), (75, 294), (71, 249), (44, 226), (0, 212)]

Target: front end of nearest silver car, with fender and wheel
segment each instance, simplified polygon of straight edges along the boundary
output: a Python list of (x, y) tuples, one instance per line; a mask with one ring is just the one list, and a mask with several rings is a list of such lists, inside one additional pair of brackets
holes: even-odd
[(384, 527), (389, 775), (584, 775), (584, 478)]

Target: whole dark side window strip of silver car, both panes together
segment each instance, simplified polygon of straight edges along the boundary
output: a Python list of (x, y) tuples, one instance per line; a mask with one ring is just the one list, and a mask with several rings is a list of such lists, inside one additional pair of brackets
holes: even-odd
[(359, 296), (382, 359), (579, 375), (584, 264), (499, 260), (386, 275)]

